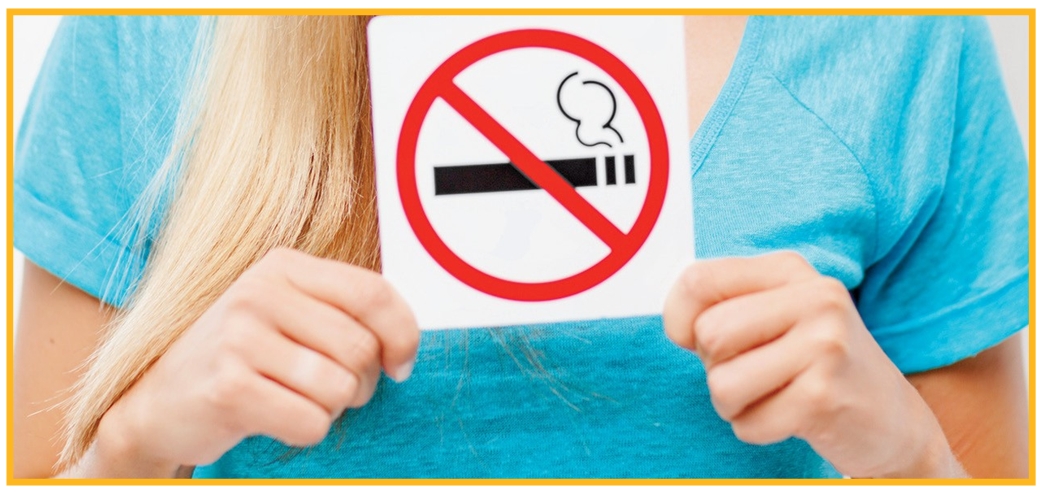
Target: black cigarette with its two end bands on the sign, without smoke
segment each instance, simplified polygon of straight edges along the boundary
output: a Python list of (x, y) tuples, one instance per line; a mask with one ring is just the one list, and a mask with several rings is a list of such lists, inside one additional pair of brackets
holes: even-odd
[[(574, 188), (598, 186), (596, 158), (545, 161)], [(606, 157), (606, 185), (617, 185), (617, 161)], [(436, 195), (536, 190), (538, 187), (512, 163), (436, 166)], [(635, 183), (635, 157), (624, 157), (624, 183)]]

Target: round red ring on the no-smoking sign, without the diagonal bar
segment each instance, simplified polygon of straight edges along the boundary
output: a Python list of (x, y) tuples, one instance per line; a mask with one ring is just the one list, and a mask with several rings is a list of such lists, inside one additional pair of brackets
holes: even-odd
[[(646, 128), (650, 150), (650, 184), (638, 217), (624, 240), (608, 245), (610, 253), (595, 265), (573, 276), (544, 282), (518, 282), (486, 274), (457, 256), (432, 227), (417, 189), (415, 160), (421, 123), (432, 104), (440, 97), (440, 88), (450, 83), (462, 70), (494, 53), (517, 48), (550, 48), (580, 56), (613, 77), (634, 102)], [(520, 29), (502, 32), (479, 40), (437, 68), (414, 97), (396, 150), (396, 174), (399, 196), (414, 234), (421, 245), (447, 273), (461, 282), (487, 295), (515, 301), (549, 301), (577, 295), (595, 287), (621, 269), (634, 257), (649, 237), (668, 190), (668, 139), (660, 113), (649, 91), (620, 58), (590, 41), (565, 32), (547, 29)]]

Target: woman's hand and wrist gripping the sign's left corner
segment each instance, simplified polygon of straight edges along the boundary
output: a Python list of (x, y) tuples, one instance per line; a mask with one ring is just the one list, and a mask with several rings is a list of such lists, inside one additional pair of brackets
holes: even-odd
[(379, 274), (274, 250), (110, 408), (93, 459), (169, 477), (252, 435), (319, 443), (346, 407), (370, 400), (382, 368), (410, 376), (418, 341), (410, 307)]

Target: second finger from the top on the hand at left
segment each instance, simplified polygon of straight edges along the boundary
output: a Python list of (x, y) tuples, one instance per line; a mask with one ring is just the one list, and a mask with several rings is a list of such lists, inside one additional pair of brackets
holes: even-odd
[[(287, 337), (321, 352), (356, 376), (380, 363), (380, 343), (351, 315), (292, 286), (264, 307)], [(378, 367), (379, 368), (379, 367)]]

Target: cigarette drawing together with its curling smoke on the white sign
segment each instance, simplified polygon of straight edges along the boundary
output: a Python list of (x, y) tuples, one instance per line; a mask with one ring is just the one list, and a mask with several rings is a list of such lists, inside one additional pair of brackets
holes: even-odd
[[(566, 75), (556, 91), (559, 111), (577, 127), (574, 136), (585, 147), (606, 146), (609, 151), (624, 143), (621, 133), (612, 126), (617, 115), (617, 97), (605, 84), (581, 80), (578, 72)], [(624, 184), (635, 183), (634, 155), (624, 157)], [(598, 186), (597, 157), (544, 161), (574, 188)], [(606, 185), (617, 185), (617, 157), (605, 157)], [(461, 193), (535, 190), (530, 181), (512, 163), (448, 165), (435, 167), (436, 195)]]

